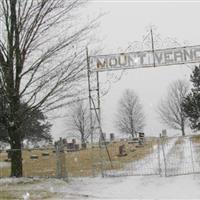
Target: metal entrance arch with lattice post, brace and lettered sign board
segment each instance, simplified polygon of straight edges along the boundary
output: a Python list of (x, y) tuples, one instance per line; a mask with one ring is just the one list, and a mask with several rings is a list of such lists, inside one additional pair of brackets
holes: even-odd
[[(182, 64), (200, 63), (200, 45), (183, 46), (177, 48), (154, 49), (153, 35), (151, 32), (152, 49), (128, 53), (87, 56), (87, 75), (90, 105), (91, 144), (93, 145), (93, 130), (98, 130), (100, 146), (106, 148), (111, 167), (112, 160), (106, 145), (105, 136), (101, 126), (101, 103), (99, 88), (99, 73), (113, 70), (152, 68)], [(95, 88), (91, 88), (91, 76), (95, 75)], [(95, 98), (94, 98), (95, 97)], [(97, 125), (93, 127), (93, 117), (96, 117)]]

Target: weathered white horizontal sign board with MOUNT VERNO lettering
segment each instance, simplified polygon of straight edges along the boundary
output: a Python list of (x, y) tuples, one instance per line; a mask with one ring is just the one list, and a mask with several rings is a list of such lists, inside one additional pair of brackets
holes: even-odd
[(200, 62), (200, 45), (89, 57), (91, 71), (122, 70)]

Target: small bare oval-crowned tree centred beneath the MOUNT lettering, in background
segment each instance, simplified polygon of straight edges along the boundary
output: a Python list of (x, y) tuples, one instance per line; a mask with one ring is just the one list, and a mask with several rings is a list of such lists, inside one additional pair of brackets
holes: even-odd
[(133, 138), (142, 131), (145, 117), (138, 96), (134, 91), (126, 89), (118, 106), (116, 125), (120, 132), (130, 134)]

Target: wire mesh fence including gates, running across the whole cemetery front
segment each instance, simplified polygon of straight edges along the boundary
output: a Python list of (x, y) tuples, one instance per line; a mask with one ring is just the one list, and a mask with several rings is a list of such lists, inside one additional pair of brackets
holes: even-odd
[[(200, 173), (200, 137), (147, 138), (87, 145), (22, 150), (23, 176), (69, 179), (83, 176), (176, 176)], [(12, 150), (15, 151), (15, 150)], [(0, 150), (0, 177), (11, 174), (11, 150)]]

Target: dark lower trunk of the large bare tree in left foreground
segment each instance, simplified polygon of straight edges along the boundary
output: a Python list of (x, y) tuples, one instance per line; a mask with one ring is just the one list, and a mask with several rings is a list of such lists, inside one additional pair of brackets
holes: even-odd
[(11, 177), (22, 177), (22, 146), (20, 133), (15, 127), (9, 128), (11, 135)]

